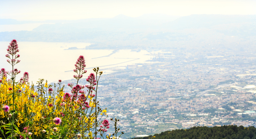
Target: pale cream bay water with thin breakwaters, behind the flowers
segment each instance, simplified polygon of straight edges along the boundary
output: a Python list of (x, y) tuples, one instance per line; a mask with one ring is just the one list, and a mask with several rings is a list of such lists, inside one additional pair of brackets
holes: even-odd
[[(18, 41), (18, 40), (17, 40)], [(11, 70), (11, 65), (6, 61), (7, 46), (10, 42), (0, 42), (0, 68)], [(59, 79), (72, 79), (75, 74), (72, 70), (74, 64), (80, 55), (85, 58), (87, 77), (93, 72), (93, 68), (99, 67), (104, 74), (110, 73), (113, 68), (125, 68), (127, 65), (136, 63), (145, 63), (152, 56), (150, 53), (141, 50), (134, 52), (131, 50), (118, 50), (111, 54), (114, 50), (65, 50), (70, 47), (85, 48), (90, 43), (56, 43), (56, 42), (19, 42), (19, 60), (20, 63), (15, 65), (15, 68), (21, 70), (17, 79), (24, 72), (29, 73), (29, 81), (36, 83), (38, 79), (46, 79), (48, 82), (55, 82)], [(104, 57), (107, 56), (107, 57)], [(109, 65), (109, 66), (108, 66)], [(121, 67), (122, 66), (122, 67)], [(65, 72), (66, 71), (66, 72)], [(17, 80), (16, 79), (16, 80)]]

